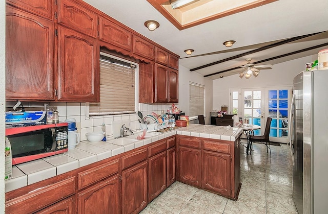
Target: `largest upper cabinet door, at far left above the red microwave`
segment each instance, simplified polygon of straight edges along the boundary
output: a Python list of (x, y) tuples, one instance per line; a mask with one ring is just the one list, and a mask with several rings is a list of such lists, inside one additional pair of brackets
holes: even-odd
[(6, 99), (54, 100), (54, 24), (6, 7)]

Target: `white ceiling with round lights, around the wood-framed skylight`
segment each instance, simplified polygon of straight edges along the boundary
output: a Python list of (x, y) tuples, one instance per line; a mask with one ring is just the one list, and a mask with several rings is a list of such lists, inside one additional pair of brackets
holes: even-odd
[[(279, 0), (182, 31), (174, 27), (146, 0), (84, 1), (178, 54), (179, 64), (188, 69), (243, 54), (280, 40), (328, 31), (327, 0)], [(144, 22), (150, 19), (160, 23), (160, 27), (153, 32), (144, 26)], [(232, 47), (225, 47), (222, 43), (227, 40), (235, 40), (236, 43)], [(325, 32), (193, 72), (210, 75), (243, 65), (247, 63), (245, 59), (248, 57), (253, 58), (251, 62), (257, 62), (327, 42), (328, 33)], [(325, 45), (256, 65), (273, 64), (274, 66), (276, 63), (317, 54), (327, 48), (328, 45)], [(194, 49), (195, 52), (187, 56), (183, 52), (186, 49)], [(215, 54), (198, 56), (213, 52)], [(209, 78), (217, 79), (220, 76), (238, 74), (240, 71), (241, 69), (232, 70)]]

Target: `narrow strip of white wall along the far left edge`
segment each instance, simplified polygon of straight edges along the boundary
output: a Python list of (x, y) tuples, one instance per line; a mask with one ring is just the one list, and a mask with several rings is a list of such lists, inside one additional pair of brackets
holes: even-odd
[[(0, 151), (5, 151), (5, 36), (6, 36), (6, 1), (0, 3)], [(5, 213), (5, 156), (0, 155), (0, 213)]]

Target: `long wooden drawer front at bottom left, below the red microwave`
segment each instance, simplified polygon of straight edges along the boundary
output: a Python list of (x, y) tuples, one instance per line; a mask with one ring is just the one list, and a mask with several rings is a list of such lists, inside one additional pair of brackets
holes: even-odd
[(32, 213), (75, 192), (75, 177), (67, 178), (6, 202), (6, 213)]

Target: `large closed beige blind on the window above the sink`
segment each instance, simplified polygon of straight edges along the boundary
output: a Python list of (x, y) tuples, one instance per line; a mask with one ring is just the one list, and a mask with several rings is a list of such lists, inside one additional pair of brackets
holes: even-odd
[(117, 61), (101, 56), (100, 102), (89, 104), (90, 116), (135, 113), (136, 65)]

